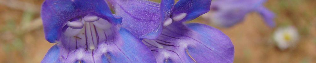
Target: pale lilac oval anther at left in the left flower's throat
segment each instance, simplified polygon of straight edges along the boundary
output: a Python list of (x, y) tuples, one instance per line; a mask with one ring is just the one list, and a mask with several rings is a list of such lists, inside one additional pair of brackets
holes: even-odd
[(71, 21), (67, 23), (67, 26), (73, 29), (81, 29), (83, 27), (83, 23), (80, 21)]

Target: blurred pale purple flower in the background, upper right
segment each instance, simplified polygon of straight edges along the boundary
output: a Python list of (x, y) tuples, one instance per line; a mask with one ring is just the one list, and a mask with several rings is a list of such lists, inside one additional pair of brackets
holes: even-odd
[(205, 14), (204, 18), (215, 25), (231, 27), (243, 21), (246, 14), (257, 12), (268, 26), (274, 27), (274, 14), (264, 7), (264, 2), (266, 0), (216, 0), (211, 5), (210, 13)]

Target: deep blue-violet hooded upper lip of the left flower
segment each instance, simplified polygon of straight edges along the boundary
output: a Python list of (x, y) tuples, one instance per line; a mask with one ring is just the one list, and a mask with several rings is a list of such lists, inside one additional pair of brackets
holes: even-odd
[(108, 20), (114, 25), (120, 24), (122, 20), (112, 15), (104, 0), (46, 0), (41, 10), (46, 40), (56, 43), (67, 21), (88, 13)]

